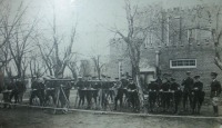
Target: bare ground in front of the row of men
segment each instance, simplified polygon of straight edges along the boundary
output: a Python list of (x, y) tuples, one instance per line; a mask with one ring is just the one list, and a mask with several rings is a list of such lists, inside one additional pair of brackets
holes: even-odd
[[(29, 93), (26, 93), (24, 99), (28, 96)], [(70, 97), (72, 108), (75, 96), (75, 91), (72, 90)], [(221, 108), (220, 114), (222, 114)], [(200, 116), (103, 114), (80, 110), (53, 115), (38, 108), (0, 108), (0, 128), (220, 128), (221, 124), (222, 117), (212, 117), (212, 107), (206, 105), (203, 106)]]

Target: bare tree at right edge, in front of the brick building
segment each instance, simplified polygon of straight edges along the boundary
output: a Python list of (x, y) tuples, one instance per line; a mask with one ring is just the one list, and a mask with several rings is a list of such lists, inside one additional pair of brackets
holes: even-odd
[(222, 70), (222, 6), (200, 4), (193, 8), (194, 24), (189, 28), (202, 31), (209, 31), (215, 50), (215, 65)]

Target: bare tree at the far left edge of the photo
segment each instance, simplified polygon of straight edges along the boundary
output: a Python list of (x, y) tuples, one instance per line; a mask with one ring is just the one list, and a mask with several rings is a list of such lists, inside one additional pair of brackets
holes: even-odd
[(10, 3), (7, 0), (0, 1), (0, 43), (1, 50), (1, 68), (4, 67), (8, 76), (11, 76), (11, 70), (8, 65), (12, 60), (12, 57), (9, 51), (10, 39), (14, 33), (14, 28), (19, 26), (19, 21), (23, 17), (27, 8), (22, 8), (22, 2), (18, 7), (18, 11), (14, 16), (11, 16)]

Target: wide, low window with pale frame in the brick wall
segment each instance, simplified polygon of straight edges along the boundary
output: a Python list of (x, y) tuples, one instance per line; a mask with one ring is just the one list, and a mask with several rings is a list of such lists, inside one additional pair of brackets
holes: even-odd
[(196, 59), (170, 60), (170, 68), (196, 68)]

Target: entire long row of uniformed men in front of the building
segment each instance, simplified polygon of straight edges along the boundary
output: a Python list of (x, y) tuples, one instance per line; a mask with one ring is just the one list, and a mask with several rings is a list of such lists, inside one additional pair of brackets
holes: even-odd
[[(218, 73), (211, 72), (211, 90), (210, 98), (213, 105), (214, 116), (219, 116), (219, 96), (221, 93), (221, 83), (216, 80)], [(6, 89), (2, 91), (4, 102), (11, 102), (14, 97), (16, 104), (19, 101), (19, 93), (26, 91), (26, 86), (20, 81), (6, 82)], [(123, 102), (127, 107), (133, 108), (138, 111), (140, 108), (140, 100), (138, 93), (138, 87), (132, 78), (115, 78), (111, 81), (107, 80), (83, 80), (81, 77), (78, 81), (58, 81), (58, 80), (42, 80), (34, 79), (31, 85), (31, 95), (29, 104), (33, 105), (33, 99), (37, 97), (40, 100), (40, 105), (47, 105), (50, 96), (54, 105), (59, 99), (61, 106), (64, 106), (69, 101), (70, 89), (78, 88), (79, 101), (78, 107), (84, 106), (87, 99), (88, 108), (92, 107), (92, 99), (97, 105), (105, 108), (109, 102), (114, 102), (114, 110), (123, 107)], [(10, 90), (10, 91), (9, 91)], [(21, 92), (22, 91), (22, 92)], [(57, 96), (58, 91), (60, 95)], [(178, 83), (174, 78), (163, 77), (152, 79), (149, 85), (143, 88), (143, 92), (148, 92), (148, 110), (153, 112), (157, 108), (162, 108), (162, 111), (179, 112), (180, 104), (182, 104), (183, 111), (191, 110), (192, 114), (200, 114), (201, 106), (204, 101), (205, 92), (203, 91), (203, 82), (200, 81), (200, 76), (191, 77), (191, 72), (186, 71), (186, 78), (182, 83)], [(118, 101), (120, 104), (118, 104)], [(4, 107), (8, 105), (4, 104)]]

